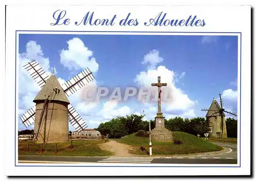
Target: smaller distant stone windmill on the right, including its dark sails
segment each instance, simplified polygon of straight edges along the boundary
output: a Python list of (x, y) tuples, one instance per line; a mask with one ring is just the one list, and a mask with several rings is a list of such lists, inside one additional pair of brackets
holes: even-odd
[(226, 120), (225, 113), (232, 114), (237, 116), (234, 113), (225, 111), (223, 109), (223, 100), (220, 95), (221, 106), (218, 104), (217, 100), (212, 100), (209, 109), (202, 109), (201, 111), (207, 111), (206, 121), (208, 122), (211, 128), (211, 137), (215, 138), (227, 138), (227, 128), (226, 128)]

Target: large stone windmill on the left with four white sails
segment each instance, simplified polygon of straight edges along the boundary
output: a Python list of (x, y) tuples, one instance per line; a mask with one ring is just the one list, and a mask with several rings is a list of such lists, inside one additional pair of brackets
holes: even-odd
[(33, 100), (35, 106), (20, 116), (26, 127), (34, 122), (34, 140), (38, 143), (68, 141), (68, 122), (76, 131), (84, 130), (86, 122), (67, 97), (93, 81), (95, 78), (92, 72), (86, 68), (60, 85), (54, 71), (48, 75), (36, 61), (24, 67), (41, 88)]

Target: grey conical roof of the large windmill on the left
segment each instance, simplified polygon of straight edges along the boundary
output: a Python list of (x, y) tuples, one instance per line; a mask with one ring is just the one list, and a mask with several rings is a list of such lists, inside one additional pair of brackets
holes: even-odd
[[(57, 89), (57, 92), (55, 93), (55, 89)], [(59, 90), (59, 91), (58, 91)], [(64, 90), (59, 84), (59, 81), (55, 74), (52, 74), (44, 87), (41, 88), (37, 96), (34, 98), (33, 102), (36, 102), (37, 100), (45, 100), (50, 95), (49, 99), (52, 100), (59, 100), (63, 102), (68, 102), (70, 104)]]

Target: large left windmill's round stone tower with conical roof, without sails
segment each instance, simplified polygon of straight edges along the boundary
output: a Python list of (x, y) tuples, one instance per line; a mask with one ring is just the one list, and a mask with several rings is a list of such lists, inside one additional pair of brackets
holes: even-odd
[(68, 141), (70, 102), (54, 73), (33, 102), (36, 104), (34, 134), (37, 143)]

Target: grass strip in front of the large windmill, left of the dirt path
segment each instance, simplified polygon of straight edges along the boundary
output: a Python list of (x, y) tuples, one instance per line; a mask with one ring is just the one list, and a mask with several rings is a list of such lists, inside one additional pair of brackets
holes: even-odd
[[(102, 141), (73, 141), (73, 148), (64, 148), (63, 150), (60, 150), (58, 152), (54, 151), (44, 151), (40, 152), (39, 150), (19, 150), (19, 155), (38, 155), (38, 156), (111, 156), (113, 155), (112, 152), (102, 150), (98, 146), (99, 143), (102, 143)], [(65, 143), (58, 143), (58, 147), (67, 147), (70, 145), (70, 142)], [(38, 146), (38, 145), (33, 145)], [(54, 149), (56, 146), (56, 143), (50, 143), (47, 145), (46, 148)]]

